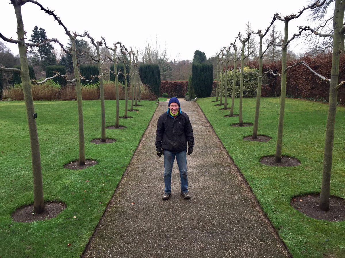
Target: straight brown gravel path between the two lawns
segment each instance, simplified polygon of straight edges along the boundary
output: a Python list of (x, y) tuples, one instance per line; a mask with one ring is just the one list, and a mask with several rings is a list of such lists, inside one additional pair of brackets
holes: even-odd
[(161, 102), (83, 257), (289, 257), (199, 106), (181, 101), (181, 108), (195, 138), (191, 199), (180, 195), (176, 161), (172, 195), (161, 199), (163, 158), (154, 144), (167, 110)]

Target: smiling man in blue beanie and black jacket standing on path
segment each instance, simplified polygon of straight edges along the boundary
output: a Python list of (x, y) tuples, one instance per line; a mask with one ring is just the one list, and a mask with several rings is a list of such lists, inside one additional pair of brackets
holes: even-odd
[(168, 200), (171, 195), (171, 172), (175, 156), (180, 171), (181, 195), (189, 199), (186, 154), (193, 152), (193, 128), (188, 115), (181, 111), (180, 102), (175, 97), (169, 100), (168, 111), (158, 118), (155, 145), (158, 157), (164, 154), (165, 189), (162, 199)]

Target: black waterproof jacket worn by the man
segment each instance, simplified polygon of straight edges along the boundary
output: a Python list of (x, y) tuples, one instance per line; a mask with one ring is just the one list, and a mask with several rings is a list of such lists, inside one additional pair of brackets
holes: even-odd
[(157, 122), (156, 148), (171, 152), (181, 152), (194, 146), (193, 128), (185, 112), (178, 110), (176, 118), (170, 116), (170, 110), (160, 115)]

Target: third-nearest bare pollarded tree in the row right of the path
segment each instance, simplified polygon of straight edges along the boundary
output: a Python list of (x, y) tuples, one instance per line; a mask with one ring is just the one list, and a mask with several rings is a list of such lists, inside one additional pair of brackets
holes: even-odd
[(272, 19), (272, 22), (269, 24), (269, 26), (267, 27), (267, 29), (265, 30), (264, 33), (262, 33), (261, 30), (258, 30), (257, 34), (260, 37), (260, 41), (259, 41), (259, 78), (258, 78), (258, 87), (256, 90), (256, 105), (255, 105), (255, 116), (254, 116), (254, 126), (253, 126), (253, 134), (252, 134), (252, 139), (257, 139), (258, 137), (258, 123), (259, 123), (259, 109), (260, 109), (260, 97), (261, 97), (261, 86), (262, 86), (262, 66), (263, 66), (263, 56), (265, 54), (265, 52), (267, 51), (268, 47), (270, 46), (269, 43), (266, 47), (265, 51), (262, 51), (262, 40), (264, 38), (264, 36), (266, 36), (267, 32), (269, 31), (269, 29), (271, 28), (271, 26), (273, 25), (274, 21), (276, 20), (276, 17), (274, 16)]

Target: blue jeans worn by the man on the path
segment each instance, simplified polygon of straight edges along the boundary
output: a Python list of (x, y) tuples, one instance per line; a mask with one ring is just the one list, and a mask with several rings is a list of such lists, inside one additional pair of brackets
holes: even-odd
[(172, 153), (164, 150), (164, 192), (171, 193), (171, 172), (172, 164), (174, 164), (175, 156), (180, 171), (181, 193), (188, 192), (188, 178), (187, 178), (187, 151)]

